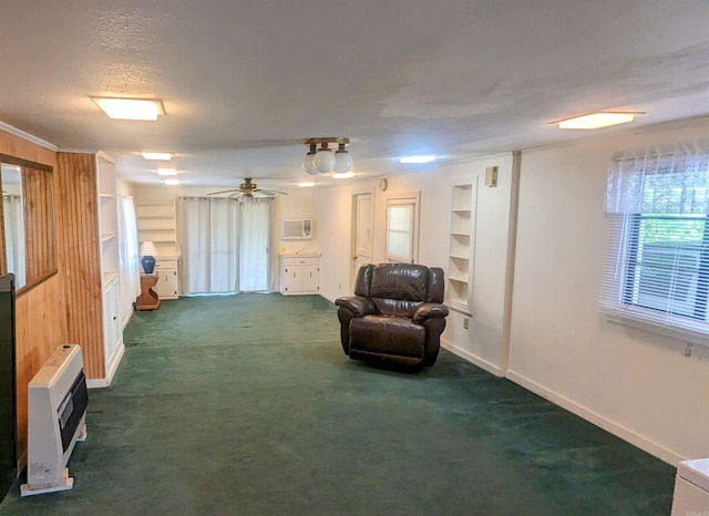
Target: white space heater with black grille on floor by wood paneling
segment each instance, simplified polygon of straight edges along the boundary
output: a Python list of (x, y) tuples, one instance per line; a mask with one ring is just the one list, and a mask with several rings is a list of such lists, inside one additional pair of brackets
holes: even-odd
[(76, 441), (86, 438), (88, 404), (81, 347), (63, 344), (28, 389), (27, 484), (20, 486), (22, 496), (73, 487), (66, 462)]

